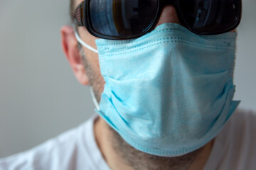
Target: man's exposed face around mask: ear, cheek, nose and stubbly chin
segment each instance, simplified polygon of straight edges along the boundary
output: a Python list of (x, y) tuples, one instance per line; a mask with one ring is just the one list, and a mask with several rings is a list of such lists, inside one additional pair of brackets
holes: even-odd
[[(81, 2), (82, 0), (76, 0), (75, 7), (78, 6), (78, 4), (80, 4)], [(159, 26), (164, 23), (181, 24), (178, 21), (178, 16), (174, 6), (169, 5), (163, 8), (163, 11), (161, 12), (161, 16), (156, 26)], [(81, 50), (78, 49), (78, 40), (76, 40), (75, 38), (73, 28), (62, 28), (61, 33), (63, 37), (63, 50), (65, 52), (65, 55), (68, 57), (68, 60), (71, 64), (71, 67), (73, 68), (73, 71), (75, 72), (75, 76), (81, 84), (90, 84), (92, 86), (93, 90), (95, 91), (97, 101), (100, 102), (100, 96), (102, 94), (102, 91), (104, 90), (105, 80), (103, 79), (102, 74), (100, 72), (100, 64), (97, 53), (88, 50), (86, 47), (82, 47)], [(97, 38), (90, 35), (86, 28), (79, 27), (78, 33), (83, 42), (97, 49), (95, 43), (95, 40)], [(124, 140), (122, 140), (122, 138), (119, 137), (117, 132), (115, 132), (114, 130), (112, 130), (111, 134), (112, 139), (114, 139), (111, 145), (116, 146), (116, 149), (119, 148), (119, 153), (121, 153), (121, 155), (123, 153), (125, 157), (124, 159), (127, 159), (127, 162), (134, 164), (134, 166), (138, 164), (143, 165), (143, 167), (149, 166), (151, 167), (151, 169), (157, 169), (154, 168), (154, 164), (157, 165), (156, 167), (164, 166), (166, 164), (172, 166), (174, 166), (175, 164), (177, 166), (185, 166), (186, 164), (193, 162), (196, 155), (200, 154), (201, 152), (200, 150), (191, 152), (189, 154), (184, 155), (183, 157), (178, 157), (174, 159), (157, 157), (154, 155), (139, 152), (132, 148), (131, 146), (127, 145), (127, 143), (124, 142)], [(146, 169), (149, 169), (149, 167), (147, 167)]]

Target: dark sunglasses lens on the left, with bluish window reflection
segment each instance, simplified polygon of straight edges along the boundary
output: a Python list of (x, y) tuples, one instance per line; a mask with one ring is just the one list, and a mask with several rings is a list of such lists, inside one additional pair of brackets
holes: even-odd
[(100, 35), (132, 38), (154, 21), (158, 0), (91, 0), (90, 26)]

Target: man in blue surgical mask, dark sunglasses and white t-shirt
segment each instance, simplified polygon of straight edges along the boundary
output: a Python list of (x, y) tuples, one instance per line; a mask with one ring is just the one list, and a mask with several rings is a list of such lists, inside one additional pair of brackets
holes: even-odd
[(255, 169), (256, 115), (232, 100), (240, 1), (86, 2), (62, 45), (100, 116), (0, 169)]

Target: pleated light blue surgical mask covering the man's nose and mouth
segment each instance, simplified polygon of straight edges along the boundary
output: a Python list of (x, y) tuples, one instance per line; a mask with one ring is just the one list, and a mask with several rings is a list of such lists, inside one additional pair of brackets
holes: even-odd
[(106, 82), (97, 113), (142, 152), (177, 157), (203, 147), (239, 104), (235, 40), (174, 23), (134, 40), (96, 40)]

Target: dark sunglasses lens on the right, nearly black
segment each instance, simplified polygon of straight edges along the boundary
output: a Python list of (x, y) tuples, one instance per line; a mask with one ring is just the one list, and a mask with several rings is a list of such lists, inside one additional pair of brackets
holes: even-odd
[(181, 0), (180, 7), (186, 25), (201, 34), (220, 33), (240, 21), (241, 0)]

